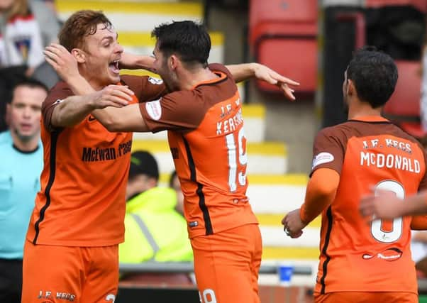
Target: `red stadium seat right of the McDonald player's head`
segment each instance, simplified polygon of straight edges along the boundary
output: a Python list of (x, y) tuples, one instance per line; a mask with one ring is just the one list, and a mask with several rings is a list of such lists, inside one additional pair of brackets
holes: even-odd
[(383, 115), (416, 138), (426, 136), (420, 123), (421, 76), (418, 61), (396, 61), (399, 78)]

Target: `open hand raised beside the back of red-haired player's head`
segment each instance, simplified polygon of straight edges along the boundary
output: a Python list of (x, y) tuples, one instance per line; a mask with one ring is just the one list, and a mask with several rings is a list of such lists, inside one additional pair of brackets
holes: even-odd
[(46, 61), (65, 82), (69, 82), (74, 77), (80, 77), (77, 60), (62, 45), (51, 43), (43, 53)]

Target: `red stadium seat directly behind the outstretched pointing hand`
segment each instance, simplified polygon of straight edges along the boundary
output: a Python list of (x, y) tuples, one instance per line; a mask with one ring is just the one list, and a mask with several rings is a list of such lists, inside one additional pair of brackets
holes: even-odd
[[(255, 60), (301, 83), (313, 94), (317, 79), (317, 0), (251, 0), (249, 41)], [(257, 82), (265, 92), (280, 92)]]

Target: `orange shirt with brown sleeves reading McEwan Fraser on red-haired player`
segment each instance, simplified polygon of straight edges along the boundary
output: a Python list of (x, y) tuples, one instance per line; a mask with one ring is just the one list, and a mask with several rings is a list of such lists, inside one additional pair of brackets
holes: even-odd
[[(135, 92), (133, 103), (165, 94), (164, 85), (150, 77), (123, 76), (122, 84)], [(27, 239), (34, 244), (111, 246), (124, 237), (132, 133), (110, 133), (91, 115), (73, 127), (53, 127), (54, 106), (72, 95), (60, 82), (43, 102), (44, 167)]]

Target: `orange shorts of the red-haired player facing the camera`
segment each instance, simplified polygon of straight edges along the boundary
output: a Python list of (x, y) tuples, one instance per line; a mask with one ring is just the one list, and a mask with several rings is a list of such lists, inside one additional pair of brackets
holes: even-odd
[(25, 243), (22, 302), (113, 303), (117, 287), (118, 246)]

